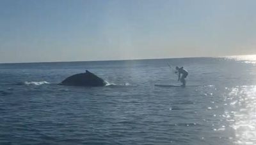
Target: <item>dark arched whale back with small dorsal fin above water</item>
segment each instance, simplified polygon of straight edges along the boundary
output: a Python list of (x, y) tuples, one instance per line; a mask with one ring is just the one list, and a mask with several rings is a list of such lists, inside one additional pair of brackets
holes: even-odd
[(90, 71), (74, 74), (61, 81), (60, 85), (67, 86), (106, 86), (107, 83), (104, 79), (96, 76)]

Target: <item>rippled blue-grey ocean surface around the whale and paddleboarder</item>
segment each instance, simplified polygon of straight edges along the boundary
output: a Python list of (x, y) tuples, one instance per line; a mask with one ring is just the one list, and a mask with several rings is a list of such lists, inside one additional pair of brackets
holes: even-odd
[[(108, 86), (58, 85), (86, 70)], [(256, 144), (256, 55), (0, 64), (0, 116), (1, 145)]]

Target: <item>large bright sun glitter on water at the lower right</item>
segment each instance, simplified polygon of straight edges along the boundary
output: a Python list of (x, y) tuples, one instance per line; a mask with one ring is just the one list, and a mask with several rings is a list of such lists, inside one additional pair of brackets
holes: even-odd
[(256, 86), (232, 88), (225, 99), (229, 106), (225, 111), (226, 121), (234, 129), (234, 144), (255, 144), (256, 142)]

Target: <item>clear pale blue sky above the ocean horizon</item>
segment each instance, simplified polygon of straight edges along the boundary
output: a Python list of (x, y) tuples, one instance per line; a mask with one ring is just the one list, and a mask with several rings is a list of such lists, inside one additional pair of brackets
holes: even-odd
[(0, 63), (256, 54), (254, 0), (0, 0)]

